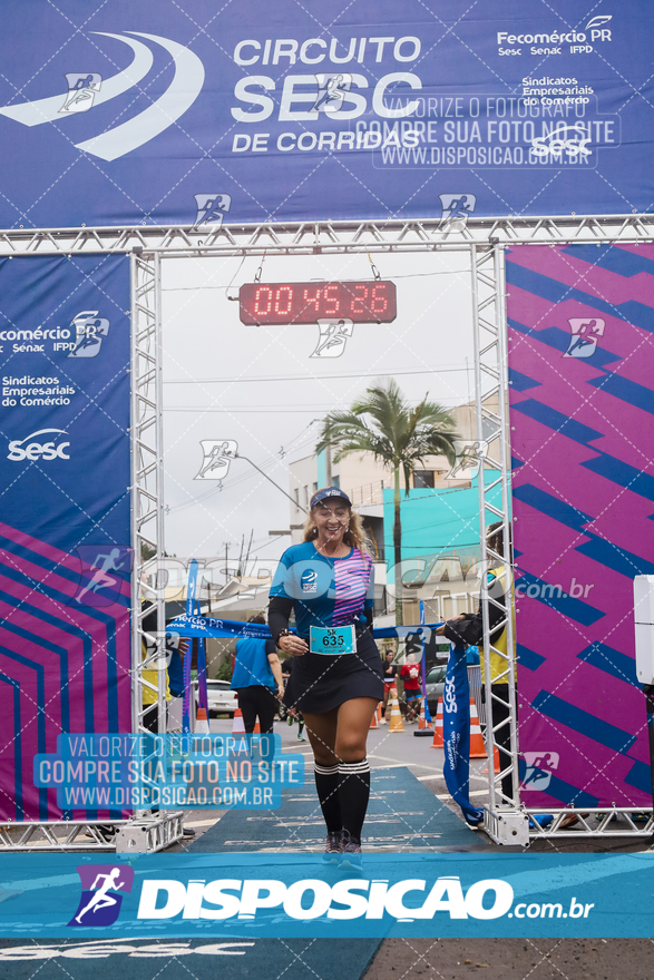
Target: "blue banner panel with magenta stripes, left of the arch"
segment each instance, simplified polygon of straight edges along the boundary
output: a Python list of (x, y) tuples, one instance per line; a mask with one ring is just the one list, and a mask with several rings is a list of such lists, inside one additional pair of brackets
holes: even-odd
[(130, 729), (129, 259), (4, 258), (0, 297), (0, 819), (51, 820), (35, 755)]

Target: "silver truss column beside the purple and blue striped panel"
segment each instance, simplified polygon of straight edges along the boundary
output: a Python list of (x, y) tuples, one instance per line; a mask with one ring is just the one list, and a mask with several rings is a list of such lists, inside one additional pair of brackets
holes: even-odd
[[(519, 812), (504, 249), (498, 244), (486, 248), (472, 245), (471, 259), (481, 582), (486, 586), (488, 572), (495, 570), (497, 577), (501, 577), (506, 602), (502, 606), (488, 588), (481, 589), (481, 656), (487, 705), (486, 748), (490, 795), (486, 830), (499, 843), (526, 843), (527, 821)], [(495, 522), (501, 523), (504, 553), (486, 546), (486, 529)], [(501, 615), (501, 621), (492, 630), (492, 636), (497, 643), (498, 630), (501, 633), (504, 626), (506, 653), (498, 649), (491, 640), (491, 612), (495, 614), (494, 620), (498, 612)], [(496, 747), (499, 754), (499, 773), (494, 773)], [(502, 782), (510, 783), (510, 792), (508, 786), (507, 792), (502, 790)]]

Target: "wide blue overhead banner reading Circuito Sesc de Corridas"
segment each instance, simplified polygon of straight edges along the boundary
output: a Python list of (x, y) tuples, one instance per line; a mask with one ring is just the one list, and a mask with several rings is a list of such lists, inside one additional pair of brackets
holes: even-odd
[(645, 212), (648, 0), (6, 4), (0, 226)]

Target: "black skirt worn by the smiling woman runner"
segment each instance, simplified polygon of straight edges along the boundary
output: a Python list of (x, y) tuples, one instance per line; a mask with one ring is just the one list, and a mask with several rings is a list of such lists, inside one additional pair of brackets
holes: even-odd
[(354, 697), (383, 700), (381, 658), (368, 629), (357, 637), (355, 654), (293, 657), (293, 672), (283, 697), (286, 707), (320, 715)]

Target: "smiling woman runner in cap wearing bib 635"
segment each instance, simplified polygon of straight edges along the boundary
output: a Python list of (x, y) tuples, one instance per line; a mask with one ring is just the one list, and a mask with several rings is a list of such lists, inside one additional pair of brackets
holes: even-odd
[[(361, 864), (370, 796), (365, 742), (383, 698), (372, 639), (373, 567), (350, 498), (338, 487), (311, 499), (304, 542), (282, 555), (271, 588), (273, 639), (296, 657), (284, 704), (302, 712), (326, 824), (325, 860)], [(295, 614), (297, 635), (289, 631)]]

